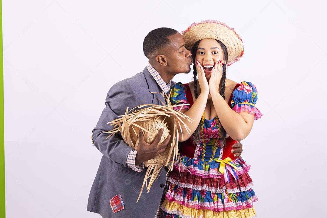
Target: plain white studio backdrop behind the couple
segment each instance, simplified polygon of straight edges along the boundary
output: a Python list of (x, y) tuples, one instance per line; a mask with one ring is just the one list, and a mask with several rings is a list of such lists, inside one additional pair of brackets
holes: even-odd
[(211, 19), (244, 42), (227, 77), (259, 91), (264, 116), (242, 141), (258, 217), (326, 217), (325, 3), (2, 2), (6, 217), (99, 218), (86, 205), (101, 158), (91, 131), (106, 93), (144, 69), (149, 31)]

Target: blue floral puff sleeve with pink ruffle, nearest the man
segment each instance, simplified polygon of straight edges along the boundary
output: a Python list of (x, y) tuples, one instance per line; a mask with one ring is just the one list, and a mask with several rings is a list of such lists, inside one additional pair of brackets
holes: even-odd
[(185, 108), (190, 109), (188, 105), (183, 106), (183, 104), (188, 104), (188, 101), (186, 99), (185, 86), (181, 82), (176, 83), (171, 88), (170, 103), (171, 105), (181, 105), (181, 106), (174, 107), (175, 110), (180, 110)]

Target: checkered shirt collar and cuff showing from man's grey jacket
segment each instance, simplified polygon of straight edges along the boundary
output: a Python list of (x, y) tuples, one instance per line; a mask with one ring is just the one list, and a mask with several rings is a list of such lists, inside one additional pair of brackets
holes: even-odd
[[(146, 65), (147, 70), (150, 72), (150, 74), (153, 76), (153, 78), (156, 80), (158, 85), (160, 86), (162, 93), (165, 94), (167, 92), (170, 92), (170, 81), (168, 84), (166, 84), (163, 79), (161, 78), (160, 74), (156, 69), (152, 67), (151, 64)], [(137, 151), (132, 149), (129, 152), (129, 155), (127, 156), (126, 164), (134, 171), (141, 172), (144, 169), (144, 164), (141, 163), (139, 165), (135, 165), (135, 157), (136, 157)]]

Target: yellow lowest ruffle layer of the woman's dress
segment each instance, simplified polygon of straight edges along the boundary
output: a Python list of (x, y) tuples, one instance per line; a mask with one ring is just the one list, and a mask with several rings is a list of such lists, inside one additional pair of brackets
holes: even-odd
[[(163, 218), (253, 218), (256, 217), (254, 208), (245, 208), (241, 210), (228, 210), (215, 212), (211, 210), (201, 210), (187, 208), (175, 202), (163, 203)], [(167, 214), (168, 213), (168, 214)]]

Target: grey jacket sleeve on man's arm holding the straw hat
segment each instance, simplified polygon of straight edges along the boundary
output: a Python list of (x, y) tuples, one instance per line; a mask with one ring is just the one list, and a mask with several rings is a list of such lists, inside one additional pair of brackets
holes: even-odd
[(131, 84), (127, 81), (116, 83), (109, 90), (106, 97), (106, 108), (103, 109), (100, 119), (93, 129), (92, 139), (95, 147), (106, 157), (125, 167), (128, 167), (126, 160), (132, 148), (123, 141), (120, 132), (106, 139), (109, 133), (102, 131), (112, 130), (113, 126), (106, 124), (117, 119), (118, 115), (124, 115), (127, 107), (129, 109), (136, 107), (137, 103), (137, 95)]

